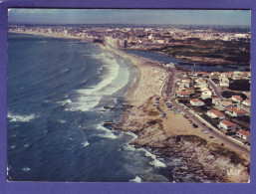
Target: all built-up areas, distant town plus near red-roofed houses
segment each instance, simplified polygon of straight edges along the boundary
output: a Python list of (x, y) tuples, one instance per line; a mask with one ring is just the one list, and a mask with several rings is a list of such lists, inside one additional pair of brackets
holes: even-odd
[[(173, 46), (180, 48), (184, 46), (184, 43), (190, 45), (189, 48), (191, 49), (191, 43), (195, 45), (195, 42), (198, 41), (204, 41), (205, 45), (208, 42), (211, 44), (215, 42), (215, 45), (212, 46), (215, 49), (216, 44), (223, 49), (224, 43), (228, 43), (231, 47), (239, 43), (240, 47), (235, 52), (235, 55), (242, 58), (243, 55), (248, 55), (250, 51), (250, 31), (247, 32), (243, 28), (235, 28), (234, 31), (232, 32), (228, 28), (219, 30), (204, 27), (194, 29), (192, 27), (160, 28), (110, 25), (108, 27), (96, 25), (9, 26), (9, 32), (37, 33), (50, 36), (61, 35), (68, 38), (85, 39), (92, 43), (108, 45), (113, 48), (154, 52), (157, 50), (163, 51), (164, 49), (162, 48), (166, 49), (168, 47), (173, 49)], [(182, 44), (180, 41), (182, 41)], [(241, 44), (244, 47), (241, 47)], [(207, 49), (210, 52), (212, 52), (212, 48), (203, 47), (204, 50)], [(216, 50), (219, 49), (217, 48)], [(174, 50), (172, 51), (173, 53)], [(168, 55), (168, 53), (165, 54)], [(230, 56), (231, 54), (227, 58), (230, 59)], [(239, 61), (240, 65), (248, 65), (250, 58), (247, 57), (245, 59), (247, 61)], [(235, 64), (232, 60), (223, 60), (219, 56), (218, 58), (211, 58), (207, 62)], [(215, 131), (216, 136), (223, 136), (239, 145), (242, 144), (249, 150), (251, 83), (251, 73), (249, 71), (209, 73), (186, 70), (182, 66), (176, 66), (176, 64), (157, 64), (170, 72), (170, 81), (162, 89), (164, 91), (163, 100), (166, 103), (166, 110), (159, 107), (160, 97), (155, 97), (154, 99), (154, 105), (161, 117), (165, 116), (165, 111), (178, 108), (179, 112), (189, 119), (191, 127), (200, 129), (202, 133), (208, 133), (208, 130)], [(250, 68), (247, 68), (247, 70), (250, 70)], [(160, 81), (164, 83), (162, 79)], [(198, 127), (198, 124), (201, 124), (201, 127)], [(218, 141), (216, 136), (210, 135), (209, 138)]]

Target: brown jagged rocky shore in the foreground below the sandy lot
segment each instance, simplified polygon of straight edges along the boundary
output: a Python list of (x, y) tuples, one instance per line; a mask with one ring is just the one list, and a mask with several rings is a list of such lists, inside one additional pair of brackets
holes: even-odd
[(137, 138), (130, 142), (135, 148), (149, 148), (162, 157), (182, 158), (187, 169), (178, 169), (178, 173), (194, 173), (214, 182), (249, 180), (250, 164), (238, 154), (195, 135), (168, 136), (164, 134), (160, 120), (138, 123), (123, 119), (114, 127), (135, 133)]

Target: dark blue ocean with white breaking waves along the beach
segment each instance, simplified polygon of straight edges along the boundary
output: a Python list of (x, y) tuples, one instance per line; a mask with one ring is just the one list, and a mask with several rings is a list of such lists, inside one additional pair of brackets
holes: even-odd
[[(129, 144), (118, 121), (137, 70), (75, 39), (8, 35), (8, 180), (202, 182), (181, 158)], [(112, 108), (105, 108), (106, 106)]]

